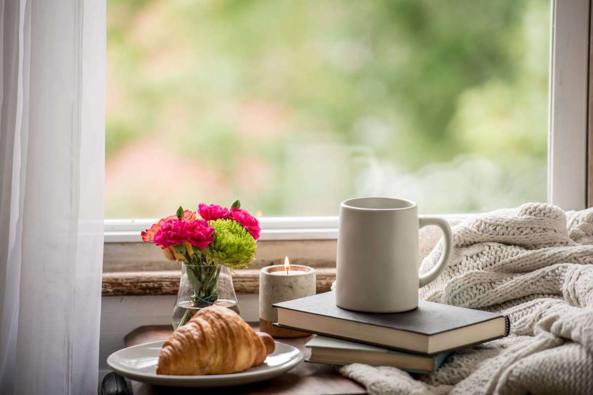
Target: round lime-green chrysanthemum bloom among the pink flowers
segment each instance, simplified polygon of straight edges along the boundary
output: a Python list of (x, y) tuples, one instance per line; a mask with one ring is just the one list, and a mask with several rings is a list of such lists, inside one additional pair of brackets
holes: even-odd
[(206, 247), (204, 253), (209, 259), (233, 269), (247, 268), (256, 255), (256, 242), (253, 236), (237, 221), (209, 221), (214, 232), (214, 241)]

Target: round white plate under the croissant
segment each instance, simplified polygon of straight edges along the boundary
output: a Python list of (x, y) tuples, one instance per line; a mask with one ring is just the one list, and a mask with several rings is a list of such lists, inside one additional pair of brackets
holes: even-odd
[(293, 346), (276, 343), (276, 350), (263, 364), (239, 373), (202, 376), (156, 374), (158, 354), (164, 341), (139, 344), (114, 352), (107, 365), (132, 380), (169, 387), (226, 387), (254, 383), (276, 377), (301, 363), (303, 354)]

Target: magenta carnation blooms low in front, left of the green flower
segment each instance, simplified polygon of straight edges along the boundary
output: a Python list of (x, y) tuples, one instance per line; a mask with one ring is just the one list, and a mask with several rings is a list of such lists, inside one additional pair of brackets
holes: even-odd
[(199, 249), (205, 249), (214, 237), (214, 228), (204, 220), (187, 222), (179, 219), (165, 221), (154, 235), (154, 243), (162, 248), (174, 244), (190, 243)]

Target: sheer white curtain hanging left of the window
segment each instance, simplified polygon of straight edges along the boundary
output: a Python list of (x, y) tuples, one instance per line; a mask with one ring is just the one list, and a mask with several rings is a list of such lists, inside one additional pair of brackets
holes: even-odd
[(104, 0), (0, 0), (0, 393), (97, 391)]

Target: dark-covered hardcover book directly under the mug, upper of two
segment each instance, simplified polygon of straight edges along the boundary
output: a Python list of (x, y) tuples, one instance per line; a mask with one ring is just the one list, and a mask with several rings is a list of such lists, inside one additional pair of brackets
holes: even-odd
[(279, 327), (434, 355), (508, 335), (508, 317), (420, 300), (403, 313), (360, 313), (336, 306), (333, 292), (273, 305)]

